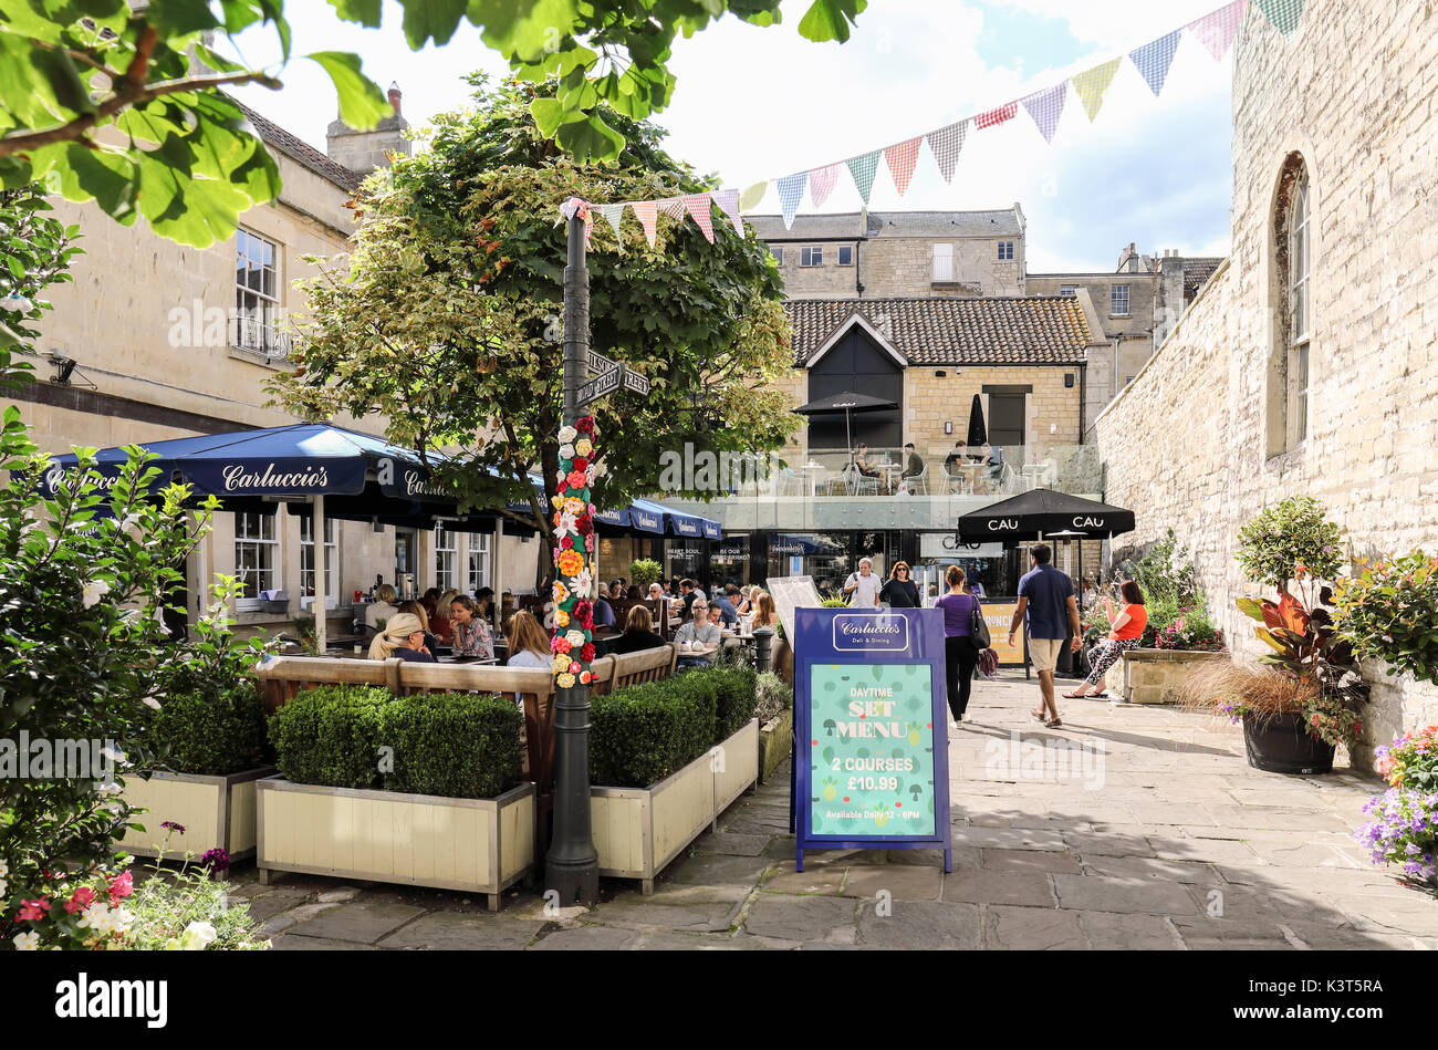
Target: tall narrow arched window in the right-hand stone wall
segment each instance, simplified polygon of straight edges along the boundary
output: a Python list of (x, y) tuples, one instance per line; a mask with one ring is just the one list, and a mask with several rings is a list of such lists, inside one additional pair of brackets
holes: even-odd
[(1313, 328), (1313, 220), (1309, 168), (1290, 154), (1274, 201), (1277, 339), (1270, 368), (1268, 453), (1303, 444), (1309, 436), (1309, 345)]

